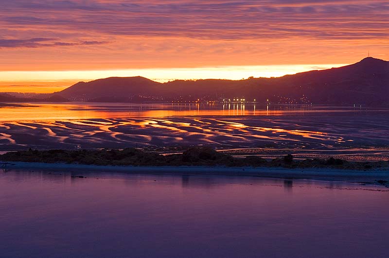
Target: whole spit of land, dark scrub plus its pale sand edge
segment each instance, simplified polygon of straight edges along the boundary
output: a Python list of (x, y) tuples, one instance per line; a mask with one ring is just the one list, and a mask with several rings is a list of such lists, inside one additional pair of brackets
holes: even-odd
[[(285, 155), (267, 161), (260, 157), (234, 158), (207, 147), (182, 154), (159, 155), (133, 148), (123, 150), (28, 150), (0, 156), (16, 166), (3, 169), (124, 172), (183, 175), (258, 176), (284, 179), (321, 179), (378, 183), (389, 187), (389, 162), (348, 162), (333, 157), (293, 160)], [(359, 180), (359, 181), (357, 181)]]

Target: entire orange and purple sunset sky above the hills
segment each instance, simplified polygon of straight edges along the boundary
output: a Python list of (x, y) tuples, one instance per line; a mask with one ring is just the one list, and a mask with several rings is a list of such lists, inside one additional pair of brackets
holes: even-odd
[(242, 79), (389, 59), (387, 0), (0, 0), (0, 91)]

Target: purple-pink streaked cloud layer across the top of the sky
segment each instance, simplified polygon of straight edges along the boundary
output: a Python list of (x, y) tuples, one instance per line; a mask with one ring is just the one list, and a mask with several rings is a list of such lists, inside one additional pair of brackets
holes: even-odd
[(388, 1), (1, 0), (0, 7), (0, 22), (7, 26), (88, 33), (211, 39), (389, 36)]

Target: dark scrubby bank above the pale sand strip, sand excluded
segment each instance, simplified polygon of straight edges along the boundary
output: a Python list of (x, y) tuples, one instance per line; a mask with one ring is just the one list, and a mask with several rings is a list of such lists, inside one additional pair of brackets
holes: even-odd
[(266, 160), (258, 156), (233, 157), (212, 148), (190, 148), (182, 154), (160, 155), (155, 152), (127, 148), (123, 150), (49, 150), (10, 152), (0, 155), (2, 161), (75, 163), (113, 166), (226, 166), (226, 167), (283, 167), (283, 168), (336, 168), (371, 170), (389, 168), (388, 161), (350, 162), (329, 159), (294, 160), (293, 155)]

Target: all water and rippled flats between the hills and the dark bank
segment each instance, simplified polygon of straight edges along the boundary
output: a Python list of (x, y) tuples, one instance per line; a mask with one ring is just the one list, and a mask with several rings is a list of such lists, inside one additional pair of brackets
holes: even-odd
[(389, 109), (314, 105), (20, 103), (0, 108), (0, 151), (211, 146), (233, 155), (389, 159)]

